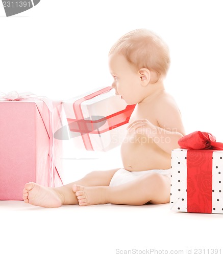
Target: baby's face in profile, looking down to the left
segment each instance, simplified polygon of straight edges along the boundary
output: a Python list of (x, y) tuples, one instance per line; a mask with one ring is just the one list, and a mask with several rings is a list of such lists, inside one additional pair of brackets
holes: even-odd
[(140, 74), (121, 54), (109, 56), (109, 69), (113, 76), (112, 88), (127, 104), (136, 104), (143, 99)]

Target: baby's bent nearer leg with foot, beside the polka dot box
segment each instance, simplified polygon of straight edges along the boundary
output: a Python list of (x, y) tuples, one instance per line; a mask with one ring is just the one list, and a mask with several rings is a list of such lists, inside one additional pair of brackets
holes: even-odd
[(143, 205), (147, 202), (163, 204), (169, 202), (170, 178), (156, 173), (145, 174), (119, 186), (74, 185), (73, 191), (81, 206), (106, 203)]

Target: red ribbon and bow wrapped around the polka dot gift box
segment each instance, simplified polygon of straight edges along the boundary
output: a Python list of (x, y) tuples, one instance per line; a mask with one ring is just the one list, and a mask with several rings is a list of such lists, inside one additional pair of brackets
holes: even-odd
[(212, 212), (212, 155), (223, 150), (210, 133), (196, 131), (182, 137), (178, 144), (187, 151), (187, 211)]

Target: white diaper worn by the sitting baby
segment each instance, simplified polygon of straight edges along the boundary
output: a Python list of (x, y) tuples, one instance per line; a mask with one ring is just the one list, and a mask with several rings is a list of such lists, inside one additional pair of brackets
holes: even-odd
[(141, 170), (139, 172), (130, 172), (129, 170), (126, 170), (124, 168), (121, 168), (117, 170), (117, 172), (114, 174), (114, 176), (111, 179), (111, 182), (109, 186), (118, 186), (121, 184), (124, 184), (126, 182), (132, 181), (137, 179), (138, 177), (144, 175), (144, 174), (151, 174), (151, 173), (157, 173), (162, 174), (170, 178), (171, 175), (171, 168), (166, 170)]

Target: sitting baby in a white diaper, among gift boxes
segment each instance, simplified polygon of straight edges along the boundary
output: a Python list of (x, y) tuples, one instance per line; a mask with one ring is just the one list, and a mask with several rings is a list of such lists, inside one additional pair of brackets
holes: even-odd
[(112, 87), (136, 104), (121, 145), (123, 168), (94, 171), (57, 188), (27, 183), (24, 202), (43, 207), (168, 203), (171, 150), (185, 133), (177, 104), (164, 89), (169, 63), (168, 47), (151, 31), (122, 36), (109, 52)]

